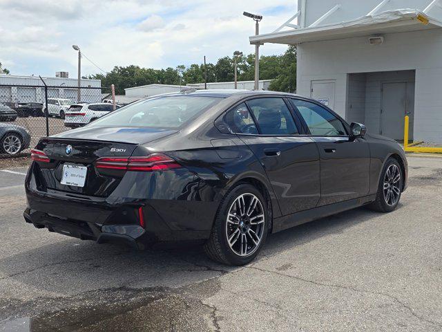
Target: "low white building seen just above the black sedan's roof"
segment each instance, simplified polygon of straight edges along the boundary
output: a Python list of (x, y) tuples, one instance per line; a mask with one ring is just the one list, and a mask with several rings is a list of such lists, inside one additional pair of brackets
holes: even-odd
[[(271, 80), (260, 80), (258, 83), (259, 90), (269, 90)], [(253, 90), (254, 81), (237, 82), (238, 89)], [(135, 101), (141, 98), (151, 97), (153, 95), (161, 95), (163, 93), (180, 92), (189, 89), (204, 89), (204, 83), (187, 84), (187, 85), (167, 85), (167, 84), (148, 84), (143, 86), (134, 86), (124, 89), (126, 95), (117, 95), (117, 101), (131, 100)], [(207, 83), (207, 89), (235, 89), (235, 82), (211, 82)], [(134, 100), (135, 99), (135, 100)]]

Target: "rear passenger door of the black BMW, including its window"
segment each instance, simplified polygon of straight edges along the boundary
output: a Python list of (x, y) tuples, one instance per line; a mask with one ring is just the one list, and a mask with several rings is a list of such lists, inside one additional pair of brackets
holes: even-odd
[(226, 122), (265, 169), (282, 215), (314, 208), (320, 199), (319, 154), (314, 140), (300, 136), (301, 123), (282, 98), (247, 100)]

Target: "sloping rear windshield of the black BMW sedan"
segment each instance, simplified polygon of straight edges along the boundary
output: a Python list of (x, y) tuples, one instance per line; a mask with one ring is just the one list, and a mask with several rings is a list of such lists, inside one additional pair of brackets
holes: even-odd
[(177, 95), (143, 100), (90, 123), (89, 127), (181, 127), (221, 98)]

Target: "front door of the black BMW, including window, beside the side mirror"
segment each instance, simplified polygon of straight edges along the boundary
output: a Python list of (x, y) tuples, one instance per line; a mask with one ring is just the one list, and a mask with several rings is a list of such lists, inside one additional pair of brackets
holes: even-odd
[(316, 142), (320, 154), (319, 205), (367, 196), (369, 192), (369, 144), (349, 136), (348, 125), (319, 103), (290, 100)]

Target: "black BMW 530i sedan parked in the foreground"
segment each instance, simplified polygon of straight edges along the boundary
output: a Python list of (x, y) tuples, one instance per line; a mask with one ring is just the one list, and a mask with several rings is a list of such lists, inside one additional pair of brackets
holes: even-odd
[(32, 150), (24, 217), (36, 228), (144, 248), (200, 240), (251, 261), (269, 232), (368, 205), (398, 206), (403, 149), (315, 100), (264, 91), (156, 96)]

